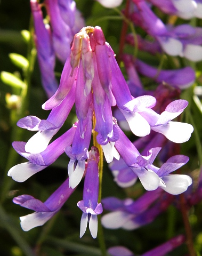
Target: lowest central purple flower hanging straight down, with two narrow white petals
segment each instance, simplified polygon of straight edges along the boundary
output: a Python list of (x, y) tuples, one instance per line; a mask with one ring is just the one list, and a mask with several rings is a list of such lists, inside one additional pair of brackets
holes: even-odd
[(93, 238), (98, 232), (97, 215), (102, 213), (102, 204), (98, 203), (99, 194), (99, 151), (96, 147), (92, 147), (90, 156), (87, 162), (87, 171), (84, 181), (83, 200), (77, 203), (80, 210), (83, 211), (82, 219), (80, 220), (80, 237), (86, 231), (87, 222)]

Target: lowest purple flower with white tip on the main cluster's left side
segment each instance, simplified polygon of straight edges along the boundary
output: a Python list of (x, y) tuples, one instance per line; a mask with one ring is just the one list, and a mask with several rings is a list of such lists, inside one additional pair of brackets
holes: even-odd
[(28, 231), (44, 225), (46, 221), (50, 220), (61, 209), (74, 190), (69, 188), (68, 178), (44, 203), (29, 195), (14, 197), (13, 202), (15, 204), (35, 211), (34, 213), (20, 217), (22, 229)]

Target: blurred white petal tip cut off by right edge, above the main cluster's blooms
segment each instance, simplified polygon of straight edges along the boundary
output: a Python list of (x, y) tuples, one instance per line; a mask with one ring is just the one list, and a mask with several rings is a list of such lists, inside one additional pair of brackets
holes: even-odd
[(202, 46), (195, 44), (187, 44), (184, 47), (183, 55), (185, 58), (191, 61), (201, 61), (202, 60)]

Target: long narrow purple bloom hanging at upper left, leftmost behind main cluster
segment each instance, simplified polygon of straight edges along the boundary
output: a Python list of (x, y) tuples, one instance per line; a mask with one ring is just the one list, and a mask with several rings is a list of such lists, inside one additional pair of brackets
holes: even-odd
[(51, 31), (49, 25), (43, 22), (43, 14), (36, 0), (30, 0), (31, 12), (35, 26), (35, 42), (37, 57), (42, 76), (42, 85), (47, 96), (50, 98), (58, 89), (55, 79), (55, 54), (53, 50)]

